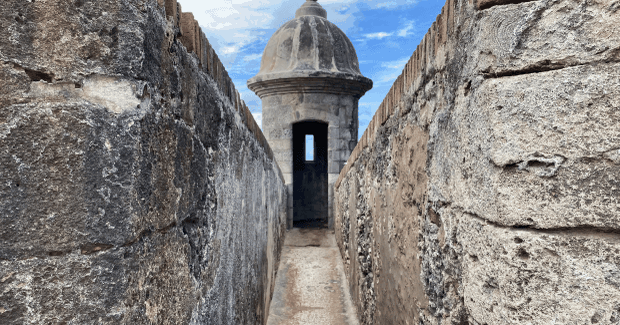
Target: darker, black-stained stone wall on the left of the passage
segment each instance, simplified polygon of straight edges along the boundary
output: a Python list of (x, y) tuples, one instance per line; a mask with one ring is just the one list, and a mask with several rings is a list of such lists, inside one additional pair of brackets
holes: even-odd
[(265, 323), (286, 187), (175, 1), (3, 1), (0, 166), (1, 324)]

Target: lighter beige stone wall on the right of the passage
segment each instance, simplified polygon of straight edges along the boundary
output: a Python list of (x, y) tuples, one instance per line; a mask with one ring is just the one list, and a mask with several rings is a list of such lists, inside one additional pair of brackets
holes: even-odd
[(620, 324), (619, 21), (446, 3), (336, 182), (364, 324)]

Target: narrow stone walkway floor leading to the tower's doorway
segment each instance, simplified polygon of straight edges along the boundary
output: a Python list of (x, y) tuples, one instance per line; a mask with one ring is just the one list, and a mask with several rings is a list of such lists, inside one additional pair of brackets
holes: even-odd
[(332, 230), (286, 233), (267, 325), (359, 324)]

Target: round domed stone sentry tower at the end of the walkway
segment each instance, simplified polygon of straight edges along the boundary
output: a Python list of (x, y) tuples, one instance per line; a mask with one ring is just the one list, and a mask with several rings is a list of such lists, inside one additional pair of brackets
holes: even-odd
[(333, 187), (357, 144), (358, 101), (372, 88), (353, 44), (316, 0), (278, 29), (248, 88), (289, 189), (288, 226), (333, 227)]

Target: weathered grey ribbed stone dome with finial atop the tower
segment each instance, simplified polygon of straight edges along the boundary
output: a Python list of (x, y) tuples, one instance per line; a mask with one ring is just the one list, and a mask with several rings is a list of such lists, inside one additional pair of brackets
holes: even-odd
[(316, 0), (307, 0), (267, 43), (249, 88), (256, 91), (257, 83), (288, 78), (345, 79), (359, 84), (360, 96), (372, 88), (372, 81), (360, 72), (353, 44), (326, 17)]

